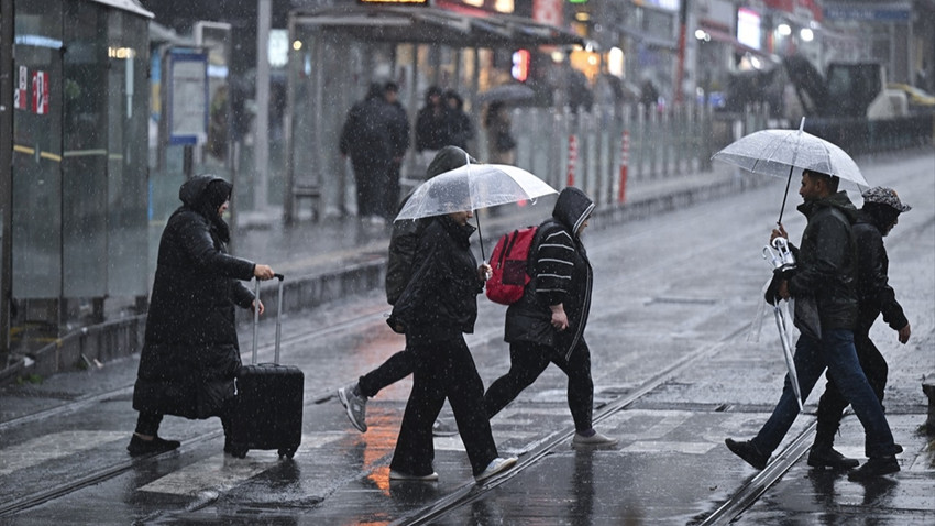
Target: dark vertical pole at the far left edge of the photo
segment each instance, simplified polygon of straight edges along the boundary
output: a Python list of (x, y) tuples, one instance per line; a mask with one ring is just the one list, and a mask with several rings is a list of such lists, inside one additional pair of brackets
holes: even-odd
[(13, 304), (13, 0), (0, 0), (0, 371), (10, 358)]

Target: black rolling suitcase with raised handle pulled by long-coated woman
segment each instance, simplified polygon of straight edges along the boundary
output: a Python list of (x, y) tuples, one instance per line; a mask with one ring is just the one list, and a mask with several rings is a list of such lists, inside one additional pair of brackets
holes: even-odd
[[(305, 374), (295, 366), (279, 365), (282, 337), (283, 275), (276, 310), (276, 352), (274, 363), (256, 363), (256, 328), (260, 313), (253, 315), (253, 360), (238, 371), (230, 418), (230, 452), (246, 457), (251, 449), (275, 449), (279, 458), (293, 458), (301, 443), (302, 394)], [(260, 298), (260, 281), (256, 282)]]

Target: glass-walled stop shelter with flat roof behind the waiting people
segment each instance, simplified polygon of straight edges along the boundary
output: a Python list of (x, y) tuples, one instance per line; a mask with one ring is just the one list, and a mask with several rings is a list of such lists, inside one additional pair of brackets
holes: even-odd
[[(477, 92), (488, 73), (482, 70), (477, 50), (571, 47), (584, 45), (584, 39), (515, 15), (479, 17), (429, 6), (346, 6), (293, 11), (289, 43), (286, 222), (297, 218), (297, 198), (311, 199), (315, 217), (322, 206), (343, 210), (345, 168), (338, 139), (348, 110), (372, 81), (397, 81), (411, 119), (419, 94), (431, 84), (469, 97)], [(464, 50), (474, 51), (466, 64)], [(449, 74), (454, 72), (447, 83), (439, 73), (446, 64)]]

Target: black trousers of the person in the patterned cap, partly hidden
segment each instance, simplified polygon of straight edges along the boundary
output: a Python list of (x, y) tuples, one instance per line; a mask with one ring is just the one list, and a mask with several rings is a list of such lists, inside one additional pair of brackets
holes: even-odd
[[(867, 382), (870, 383), (873, 394), (882, 403), (890, 368), (880, 350), (870, 340), (869, 328), (860, 328), (854, 332), (854, 347), (857, 349), (857, 359), (860, 361), (860, 368), (867, 376)], [(818, 401), (815, 446), (829, 448), (834, 445), (835, 435), (840, 427), (840, 419), (848, 402), (840, 394), (831, 374), (827, 374), (827, 386)]]

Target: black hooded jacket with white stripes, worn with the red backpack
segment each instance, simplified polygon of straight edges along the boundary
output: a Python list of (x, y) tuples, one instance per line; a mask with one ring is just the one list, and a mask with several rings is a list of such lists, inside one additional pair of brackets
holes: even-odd
[[(542, 222), (534, 241), (532, 281), (522, 298), (506, 310), (504, 339), (551, 346), (569, 359), (584, 338), (591, 310), (593, 270), (576, 232), (591, 216), (594, 202), (580, 189), (562, 190), (552, 218)], [(552, 327), (550, 305), (563, 304), (569, 328)]]

